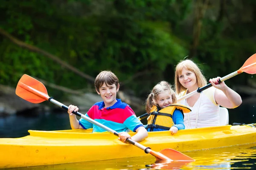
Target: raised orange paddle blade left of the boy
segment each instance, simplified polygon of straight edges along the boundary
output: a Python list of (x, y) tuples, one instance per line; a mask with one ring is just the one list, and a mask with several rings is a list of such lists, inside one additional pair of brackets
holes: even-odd
[(41, 103), (49, 99), (44, 84), (26, 74), (20, 78), (15, 93), (32, 103)]

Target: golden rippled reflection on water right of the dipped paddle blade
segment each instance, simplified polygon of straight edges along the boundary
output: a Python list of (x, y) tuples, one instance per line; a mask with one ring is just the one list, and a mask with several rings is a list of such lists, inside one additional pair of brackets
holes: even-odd
[(244, 169), (256, 167), (256, 143), (187, 152), (196, 160), (183, 169)]

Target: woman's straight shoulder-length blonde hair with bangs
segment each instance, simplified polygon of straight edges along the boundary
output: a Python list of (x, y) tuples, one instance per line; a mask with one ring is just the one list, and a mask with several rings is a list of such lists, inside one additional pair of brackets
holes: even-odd
[(186, 90), (186, 88), (184, 88), (179, 81), (179, 75), (181, 74), (183, 68), (185, 68), (187, 71), (192, 71), (193, 73), (195, 73), (198, 87), (203, 87), (207, 85), (207, 81), (202, 74), (202, 71), (200, 70), (198, 65), (195, 64), (195, 62), (190, 59), (181, 60), (175, 68), (175, 89), (177, 94), (180, 94), (180, 92)]

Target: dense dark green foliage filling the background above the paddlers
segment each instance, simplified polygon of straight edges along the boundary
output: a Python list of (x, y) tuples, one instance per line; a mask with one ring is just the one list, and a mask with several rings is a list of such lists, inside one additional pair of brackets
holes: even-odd
[[(255, 53), (253, 5), (253, 0), (229, 2), (219, 17), (220, 1), (209, 4), (192, 56), (205, 63), (206, 77), (236, 71)], [(0, 28), (92, 77), (111, 70), (123, 90), (145, 98), (157, 82), (173, 84), (175, 65), (192, 50), (194, 10), (191, 0), (3, 0)], [(29, 74), (71, 89), (92, 86), (3, 36), (0, 55), (2, 84), (15, 87), (22, 74)]]

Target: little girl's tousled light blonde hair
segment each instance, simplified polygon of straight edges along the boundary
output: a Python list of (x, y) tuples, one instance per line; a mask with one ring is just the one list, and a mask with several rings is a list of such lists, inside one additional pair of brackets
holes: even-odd
[(155, 103), (155, 101), (157, 100), (157, 95), (165, 91), (168, 91), (172, 95), (172, 103), (177, 102), (175, 91), (172, 90), (172, 85), (170, 85), (166, 81), (161, 81), (154, 86), (151, 93), (148, 95), (148, 98), (145, 102), (145, 110), (147, 113), (150, 113), (152, 106), (156, 105), (157, 107), (159, 107), (159, 105)]

